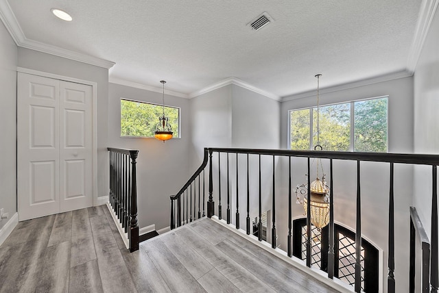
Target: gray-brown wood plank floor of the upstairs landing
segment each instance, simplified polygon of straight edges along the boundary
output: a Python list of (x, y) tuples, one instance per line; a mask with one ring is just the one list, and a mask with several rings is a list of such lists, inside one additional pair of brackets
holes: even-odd
[(105, 205), (19, 222), (0, 292), (336, 292), (204, 218), (129, 253)]

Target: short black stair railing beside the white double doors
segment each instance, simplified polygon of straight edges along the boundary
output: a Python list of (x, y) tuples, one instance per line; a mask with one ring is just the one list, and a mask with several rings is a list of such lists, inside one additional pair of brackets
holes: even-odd
[(112, 217), (130, 252), (139, 250), (137, 223), (137, 172), (139, 151), (107, 148), (110, 154), (110, 202)]

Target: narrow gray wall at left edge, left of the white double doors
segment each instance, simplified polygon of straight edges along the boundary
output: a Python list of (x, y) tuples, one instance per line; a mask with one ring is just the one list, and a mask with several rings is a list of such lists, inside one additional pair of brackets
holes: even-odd
[(10, 217), (16, 212), (16, 65), (16, 44), (0, 21), (0, 208)]

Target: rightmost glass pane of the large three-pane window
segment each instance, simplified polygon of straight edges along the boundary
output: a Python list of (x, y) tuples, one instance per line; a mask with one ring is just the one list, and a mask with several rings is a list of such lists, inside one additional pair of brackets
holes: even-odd
[(355, 102), (354, 151), (387, 152), (387, 98)]

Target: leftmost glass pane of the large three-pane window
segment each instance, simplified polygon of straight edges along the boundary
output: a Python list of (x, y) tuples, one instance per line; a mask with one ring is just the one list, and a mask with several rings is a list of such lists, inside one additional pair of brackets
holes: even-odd
[(289, 112), (291, 149), (309, 150), (309, 109)]

